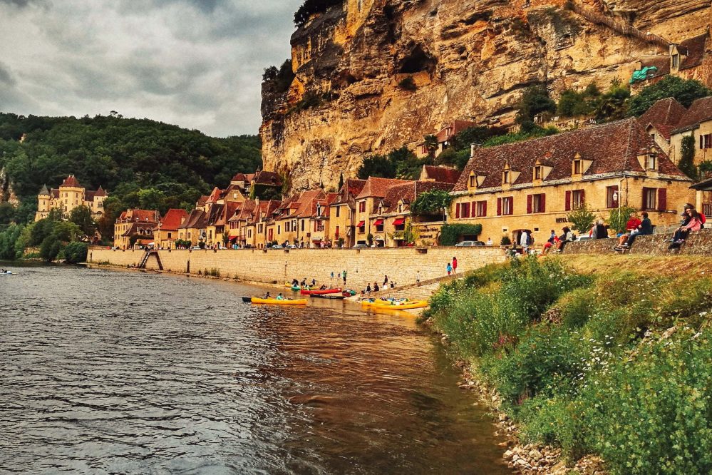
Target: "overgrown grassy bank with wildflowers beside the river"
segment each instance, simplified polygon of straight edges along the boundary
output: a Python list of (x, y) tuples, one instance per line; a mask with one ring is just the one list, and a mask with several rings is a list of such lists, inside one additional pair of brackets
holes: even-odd
[(576, 256), (485, 267), (425, 314), (497, 389), (522, 442), (614, 474), (712, 471), (712, 260)]

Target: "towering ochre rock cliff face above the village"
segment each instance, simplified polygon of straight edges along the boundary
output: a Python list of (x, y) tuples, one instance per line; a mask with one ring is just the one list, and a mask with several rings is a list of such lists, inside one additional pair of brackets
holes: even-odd
[[(594, 24), (564, 0), (345, 0), (291, 39), (296, 78), (263, 86), (264, 168), (294, 188), (353, 176), (363, 157), (454, 119), (507, 123), (522, 91), (628, 81), (661, 46)], [(680, 42), (710, 24), (709, 0), (577, 0)], [(411, 77), (416, 89), (399, 86)]]

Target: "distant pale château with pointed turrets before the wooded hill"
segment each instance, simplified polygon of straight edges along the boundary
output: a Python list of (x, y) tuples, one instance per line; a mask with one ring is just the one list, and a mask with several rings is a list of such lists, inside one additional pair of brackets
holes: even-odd
[(74, 175), (64, 179), (59, 188), (49, 190), (44, 185), (37, 195), (37, 213), (35, 221), (47, 218), (51, 210), (62, 210), (68, 215), (74, 208), (86, 206), (91, 210), (92, 217), (96, 220), (104, 214), (104, 200), (107, 194), (103, 188), (87, 190), (79, 184)]

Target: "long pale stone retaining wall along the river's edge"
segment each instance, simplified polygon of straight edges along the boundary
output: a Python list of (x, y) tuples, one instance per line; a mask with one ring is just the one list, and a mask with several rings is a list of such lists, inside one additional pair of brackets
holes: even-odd
[[(110, 250), (91, 247), (87, 261), (94, 264), (138, 266), (144, 256), (140, 250)], [(495, 262), (504, 262), (498, 247), (400, 247), (383, 249), (290, 249), (290, 250), (161, 250), (163, 270), (196, 274), (217, 270), (221, 277), (253, 282), (282, 283), (293, 278), (331, 283), (331, 272), (346, 270), (346, 287), (361, 290), (366, 284), (383, 283), (383, 275), (401, 285), (447, 275), (445, 266), (458, 257), (458, 272), (468, 272)], [(151, 256), (146, 264), (158, 270)], [(334, 284), (339, 283), (334, 277)]]

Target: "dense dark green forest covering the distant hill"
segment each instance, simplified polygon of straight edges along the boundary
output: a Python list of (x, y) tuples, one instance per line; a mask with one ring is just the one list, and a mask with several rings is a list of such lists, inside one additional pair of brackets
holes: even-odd
[[(225, 188), (234, 173), (258, 168), (261, 148), (257, 136), (210, 138), (148, 119), (0, 113), (0, 167), (21, 198), (19, 223), (32, 220), (42, 185), (56, 187), (71, 173), (90, 189), (101, 185), (120, 208), (138, 206), (139, 192), (150, 189), (164, 193), (164, 209), (185, 208), (212, 185)], [(105, 237), (107, 224), (99, 224)]]

